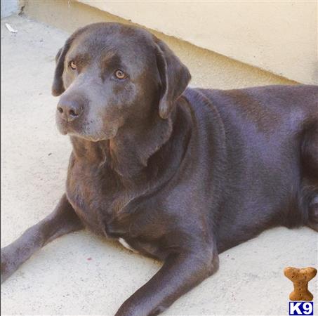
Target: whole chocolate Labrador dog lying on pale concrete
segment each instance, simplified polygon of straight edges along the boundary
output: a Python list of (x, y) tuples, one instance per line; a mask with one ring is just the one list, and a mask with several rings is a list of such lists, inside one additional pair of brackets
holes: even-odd
[(318, 86), (187, 88), (166, 44), (117, 23), (77, 30), (56, 62), (66, 192), (2, 249), (3, 279), (88, 228), (164, 261), (116, 314), (157, 315), (216, 272), (222, 251), (273, 226), (318, 231)]

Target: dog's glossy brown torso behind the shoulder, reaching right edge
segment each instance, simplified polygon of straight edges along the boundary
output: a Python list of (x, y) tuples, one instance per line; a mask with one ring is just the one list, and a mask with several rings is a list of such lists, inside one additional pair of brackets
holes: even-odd
[(225, 129), (220, 251), (277, 225), (317, 230), (318, 86), (191, 90), (216, 108)]

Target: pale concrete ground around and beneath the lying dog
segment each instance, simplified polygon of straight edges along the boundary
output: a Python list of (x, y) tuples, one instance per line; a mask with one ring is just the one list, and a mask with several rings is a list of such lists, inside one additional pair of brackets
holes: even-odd
[[(8, 32), (4, 22), (18, 29)], [(22, 17), (1, 22), (1, 246), (51, 212), (71, 146), (55, 128), (54, 57), (67, 34)], [(269, 230), (220, 255), (220, 270), (164, 315), (288, 315), (286, 266), (317, 267), (317, 233)], [(1, 287), (1, 315), (114, 315), (160, 268), (77, 232), (32, 256)], [(318, 308), (316, 277), (310, 282)]]

